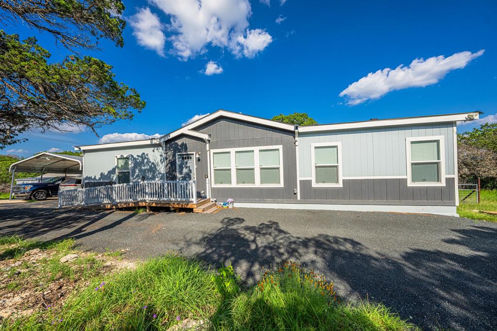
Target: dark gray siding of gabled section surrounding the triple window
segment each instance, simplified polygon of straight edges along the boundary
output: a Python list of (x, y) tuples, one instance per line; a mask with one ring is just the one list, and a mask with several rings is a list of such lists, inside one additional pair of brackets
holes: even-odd
[(212, 187), (213, 198), (217, 198), (218, 201), (233, 198), (238, 202), (296, 201), (297, 195), (294, 194), (294, 189), (297, 189), (297, 169), (294, 132), (228, 118), (218, 118), (195, 130), (211, 135), (210, 150), (282, 145), (281, 166), (283, 167), (284, 187)]

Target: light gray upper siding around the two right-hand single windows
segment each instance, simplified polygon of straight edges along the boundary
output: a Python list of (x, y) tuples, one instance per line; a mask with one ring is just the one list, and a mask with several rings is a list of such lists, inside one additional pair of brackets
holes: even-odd
[(301, 178), (311, 177), (311, 144), (342, 143), (342, 172), (345, 177), (405, 176), (406, 137), (444, 136), (445, 173), (454, 174), (452, 123), (299, 133), (299, 171)]

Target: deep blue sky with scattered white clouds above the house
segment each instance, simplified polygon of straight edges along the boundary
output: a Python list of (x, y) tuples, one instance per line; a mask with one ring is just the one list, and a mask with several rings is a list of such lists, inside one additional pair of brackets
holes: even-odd
[[(319, 123), (480, 110), (497, 122), (493, 0), (124, 2), (125, 46), (103, 41), (88, 54), (114, 66), (146, 108), (98, 129), (100, 138), (35, 131), (0, 153), (166, 134), (217, 109), (307, 112)], [(6, 31), (37, 36), (54, 60), (69, 53), (37, 31)]]

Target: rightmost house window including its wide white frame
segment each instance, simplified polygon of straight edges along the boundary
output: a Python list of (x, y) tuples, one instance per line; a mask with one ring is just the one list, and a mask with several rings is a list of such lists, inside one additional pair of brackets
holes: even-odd
[(408, 186), (445, 186), (443, 136), (406, 138)]

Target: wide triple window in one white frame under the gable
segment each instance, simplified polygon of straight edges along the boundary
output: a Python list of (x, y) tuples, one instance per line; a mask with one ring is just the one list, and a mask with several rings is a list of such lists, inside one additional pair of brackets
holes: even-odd
[(283, 148), (211, 150), (213, 187), (283, 187)]

